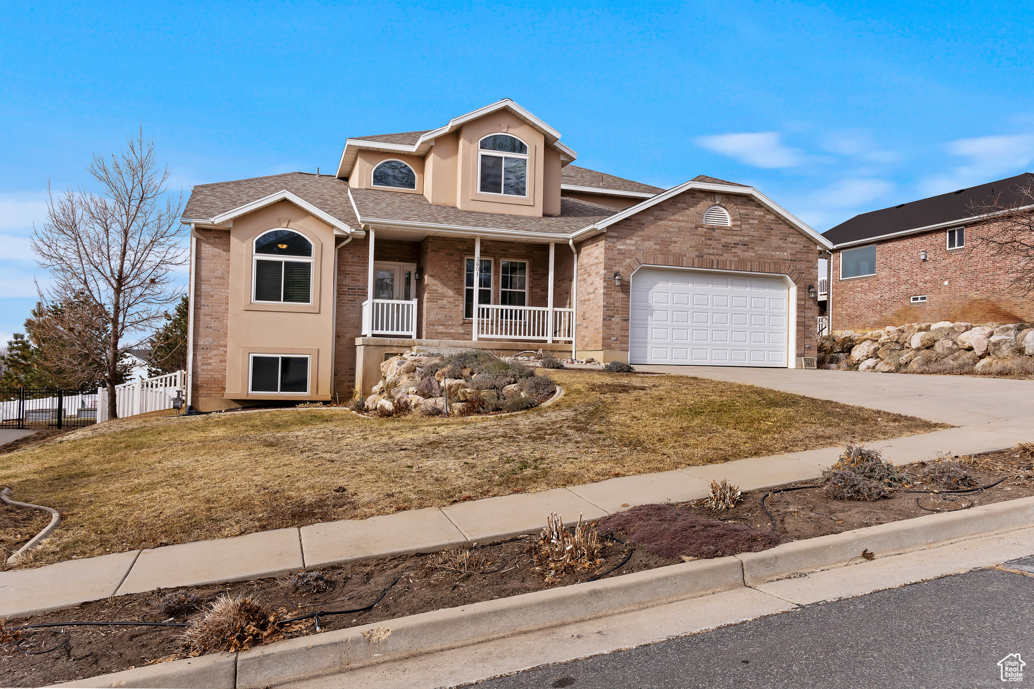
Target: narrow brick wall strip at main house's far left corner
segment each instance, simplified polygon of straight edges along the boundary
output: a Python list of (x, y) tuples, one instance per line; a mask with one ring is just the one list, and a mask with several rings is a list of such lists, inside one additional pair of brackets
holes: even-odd
[(226, 316), (230, 307), (230, 232), (196, 231), (193, 294), (193, 390), (221, 398), (226, 389)]

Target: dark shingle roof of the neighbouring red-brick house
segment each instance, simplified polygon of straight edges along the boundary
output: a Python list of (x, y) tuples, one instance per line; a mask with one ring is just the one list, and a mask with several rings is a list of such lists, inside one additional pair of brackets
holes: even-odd
[(997, 196), (1008, 205), (1020, 200), (1016, 188), (1034, 182), (1034, 175), (1024, 173), (1005, 180), (989, 182), (978, 187), (950, 191), (938, 196), (920, 198), (893, 208), (856, 215), (822, 233), (835, 244), (860, 242), (873, 237), (907, 232), (916, 227), (927, 227), (952, 220), (965, 220), (976, 212), (974, 207), (990, 203)]

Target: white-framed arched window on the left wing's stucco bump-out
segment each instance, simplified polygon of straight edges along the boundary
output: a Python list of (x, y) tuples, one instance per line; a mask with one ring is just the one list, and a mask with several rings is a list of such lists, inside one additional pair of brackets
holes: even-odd
[(271, 229), (254, 241), (251, 301), (311, 304), (312, 243), (290, 229)]

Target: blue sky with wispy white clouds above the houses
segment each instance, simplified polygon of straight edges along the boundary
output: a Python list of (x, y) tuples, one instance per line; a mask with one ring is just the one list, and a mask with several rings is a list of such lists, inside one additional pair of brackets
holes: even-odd
[(5, 3), (0, 342), (47, 283), (48, 181), (140, 123), (187, 194), (511, 97), (579, 165), (752, 184), (820, 231), (1032, 168), (1024, 3), (586, 4)]

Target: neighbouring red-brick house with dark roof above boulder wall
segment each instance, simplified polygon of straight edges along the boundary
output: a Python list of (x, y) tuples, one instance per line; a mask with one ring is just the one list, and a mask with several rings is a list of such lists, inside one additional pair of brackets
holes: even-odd
[(857, 215), (823, 236), (834, 244), (830, 326), (870, 331), (941, 320), (1014, 323), (1034, 319), (1034, 302), (1010, 280), (1018, 261), (980, 239), (996, 228), (984, 203), (1023, 202), (1025, 173), (970, 189)]

